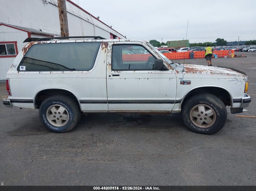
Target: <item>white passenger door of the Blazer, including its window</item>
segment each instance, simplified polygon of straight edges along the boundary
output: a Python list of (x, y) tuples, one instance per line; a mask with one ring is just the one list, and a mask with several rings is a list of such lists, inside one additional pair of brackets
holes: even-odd
[[(173, 70), (154, 70), (160, 56), (138, 42), (109, 42), (107, 96), (109, 111), (160, 112), (174, 107), (177, 81)], [(123, 55), (123, 50), (147, 50), (148, 54)], [(164, 62), (164, 64), (166, 64)]]

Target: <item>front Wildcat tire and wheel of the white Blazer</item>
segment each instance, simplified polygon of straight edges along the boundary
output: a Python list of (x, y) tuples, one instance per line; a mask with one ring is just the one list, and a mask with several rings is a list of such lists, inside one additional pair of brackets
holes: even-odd
[[(224, 103), (218, 97), (208, 93), (189, 97), (183, 103), (181, 114), (183, 122), (191, 131), (206, 135), (211, 135), (221, 130), (227, 119), (227, 109)], [(200, 115), (200, 118), (194, 117), (198, 115)], [(196, 122), (200, 122), (201, 125)]]

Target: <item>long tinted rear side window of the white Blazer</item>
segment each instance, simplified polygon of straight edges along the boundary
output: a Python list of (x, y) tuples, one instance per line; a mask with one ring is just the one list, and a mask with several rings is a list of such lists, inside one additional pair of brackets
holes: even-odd
[(100, 42), (35, 44), (21, 60), (18, 71), (88, 71)]

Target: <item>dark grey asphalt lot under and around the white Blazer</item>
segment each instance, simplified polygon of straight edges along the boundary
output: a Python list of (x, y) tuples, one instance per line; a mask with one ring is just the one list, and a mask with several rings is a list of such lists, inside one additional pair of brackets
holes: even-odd
[[(256, 53), (245, 55), (213, 65), (247, 73), (252, 102), (237, 115), (254, 116)], [(0, 83), (0, 98), (6, 95)], [(46, 130), (38, 110), (0, 103), (0, 116), (3, 185), (256, 185), (256, 119), (235, 117), (229, 108), (214, 135), (189, 131), (180, 114), (89, 114), (68, 133)]]

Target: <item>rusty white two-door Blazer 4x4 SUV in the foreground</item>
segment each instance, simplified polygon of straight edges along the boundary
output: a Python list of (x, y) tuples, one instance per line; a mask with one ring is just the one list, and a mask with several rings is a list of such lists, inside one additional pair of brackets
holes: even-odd
[[(122, 54), (138, 49), (148, 54)], [(227, 105), (241, 113), (251, 102), (244, 72), (183, 66), (142, 40), (38, 39), (15, 58), (6, 84), (5, 106), (39, 109), (53, 132), (73, 129), (82, 112), (181, 112), (189, 129), (213, 134), (225, 124)]]

